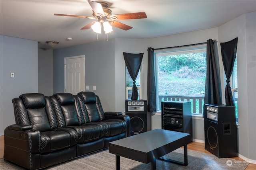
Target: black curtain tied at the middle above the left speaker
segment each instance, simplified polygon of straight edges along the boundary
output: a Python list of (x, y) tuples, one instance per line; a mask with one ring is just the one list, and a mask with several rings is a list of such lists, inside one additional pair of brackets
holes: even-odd
[(133, 86), (132, 86), (132, 100), (138, 100), (138, 89), (136, 86), (136, 78), (138, 76), (138, 72), (140, 70), (140, 65), (142, 61), (142, 57), (144, 53), (139, 54), (130, 54), (130, 53), (124, 53), (124, 61), (126, 64), (126, 67), (128, 69), (128, 72), (133, 80)]

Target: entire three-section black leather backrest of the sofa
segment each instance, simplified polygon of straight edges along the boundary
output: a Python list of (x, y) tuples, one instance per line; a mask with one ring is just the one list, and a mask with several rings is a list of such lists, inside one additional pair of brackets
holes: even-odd
[(52, 96), (28, 93), (14, 98), (12, 103), (16, 124), (32, 125), (42, 132), (105, 119), (100, 98), (94, 92)]

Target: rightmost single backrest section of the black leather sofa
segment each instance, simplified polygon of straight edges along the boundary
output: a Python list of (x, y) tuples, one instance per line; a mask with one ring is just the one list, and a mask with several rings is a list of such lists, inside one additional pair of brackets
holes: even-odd
[(94, 92), (80, 92), (84, 107), (89, 117), (90, 122), (102, 121), (105, 119), (105, 114), (102, 109), (100, 98)]

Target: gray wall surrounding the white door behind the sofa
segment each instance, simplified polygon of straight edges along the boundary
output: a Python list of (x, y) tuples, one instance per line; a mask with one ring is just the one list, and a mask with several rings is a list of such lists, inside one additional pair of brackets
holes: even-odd
[(53, 93), (64, 92), (64, 58), (85, 55), (86, 86), (100, 96), (104, 111), (115, 107), (114, 39), (56, 49), (53, 54)]

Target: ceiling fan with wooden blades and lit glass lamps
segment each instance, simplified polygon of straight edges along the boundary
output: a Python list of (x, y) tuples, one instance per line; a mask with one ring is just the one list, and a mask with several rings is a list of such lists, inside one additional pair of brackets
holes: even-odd
[[(70, 16), (70, 17), (79, 17), (79, 18), (89, 18), (89, 19), (96, 19), (96, 21), (93, 21), (81, 29), (89, 29), (92, 27), (94, 29), (94, 25), (99, 26), (100, 24), (100, 29), (101, 25), (104, 25), (104, 31), (105, 28), (108, 25), (112, 25), (114, 27), (118, 27), (123, 30), (129, 30), (132, 29), (129, 25), (126, 25), (124, 23), (120, 23), (116, 20), (130, 20), (130, 19), (141, 19), (141, 18), (147, 18), (145, 12), (135, 12), (135, 13), (128, 13), (128, 14), (115, 14), (112, 15), (112, 11), (108, 8), (108, 4), (106, 2), (94, 2), (88, 0), (90, 6), (92, 7), (92, 15), (93, 17), (88, 17), (88, 16), (76, 16), (76, 15), (66, 15), (66, 14), (54, 14), (55, 16)], [(106, 25), (105, 25), (106, 24)], [(111, 27), (112, 31), (112, 27)], [(105, 31), (105, 33), (111, 32), (111, 31)], [(96, 32), (96, 31), (95, 31)], [(101, 32), (98, 32), (101, 33)]]

